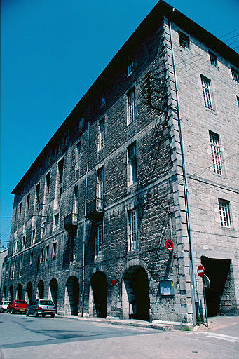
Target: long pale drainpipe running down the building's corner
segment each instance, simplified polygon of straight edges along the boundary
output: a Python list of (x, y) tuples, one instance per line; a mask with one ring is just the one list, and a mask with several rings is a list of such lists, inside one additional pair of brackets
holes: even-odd
[[(175, 8), (172, 8), (172, 14), (168, 19), (169, 29), (170, 29), (170, 44), (172, 48), (172, 29), (171, 29), (171, 22), (172, 15), (175, 12)], [(180, 138), (180, 147), (182, 153), (182, 170), (183, 170), (183, 177), (184, 177), (184, 194), (185, 194), (185, 205), (186, 205), (186, 219), (187, 219), (187, 229), (189, 235), (189, 269), (190, 269), (190, 276), (191, 276), (191, 297), (192, 297), (192, 305), (193, 305), (193, 324), (196, 325), (197, 321), (197, 311), (198, 311), (198, 296), (196, 292), (196, 276), (195, 276), (195, 262), (194, 262), (194, 255), (193, 255), (193, 240), (192, 240), (192, 231), (191, 231), (191, 221), (190, 221), (190, 207), (189, 207), (189, 187), (188, 187), (188, 180), (186, 175), (186, 162), (185, 162), (185, 153), (184, 153), (184, 141), (182, 136), (182, 126), (181, 126), (181, 115), (180, 115), (180, 108), (179, 108), (179, 95), (178, 95), (178, 88), (177, 88), (177, 76), (175, 70), (175, 58), (172, 49), (172, 67), (173, 67), (173, 74), (175, 78), (175, 90), (176, 90), (176, 99), (177, 99), (177, 118), (178, 118), (178, 125), (179, 125), (179, 138)]]

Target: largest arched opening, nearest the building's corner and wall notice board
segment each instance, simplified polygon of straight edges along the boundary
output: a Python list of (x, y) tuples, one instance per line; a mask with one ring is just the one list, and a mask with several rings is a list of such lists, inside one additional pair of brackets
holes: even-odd
[(125, 274), (125, 288), (130, 306), (129, 317), (149, 321), (149, 282), (142, 266), (132, 266)]

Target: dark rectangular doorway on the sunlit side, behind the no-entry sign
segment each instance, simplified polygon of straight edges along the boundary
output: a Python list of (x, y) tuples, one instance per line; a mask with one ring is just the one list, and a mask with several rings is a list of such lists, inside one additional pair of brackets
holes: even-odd
[[(210, 289), (205, 289), (207, 314), (209, 317), (224, 314), (224, 297), (228, 290), (228, 274), (231, 260), (201, 257), (205, 274), (210, 279)], [(225, 308), (226, 309), (226, 308)]]

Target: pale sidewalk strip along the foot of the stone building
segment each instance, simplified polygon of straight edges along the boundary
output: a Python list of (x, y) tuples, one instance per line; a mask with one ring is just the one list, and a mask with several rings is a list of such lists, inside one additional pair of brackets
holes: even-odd
[(208, 328), (205, 323), (201, 325), (196, 325), (195, 327), (191, 323), (180, 323), (180, 322), (167, 322), (163, 320), (153, 320), (153, 322), (146, 322), (145, 320), (137, 319), (119, 319), (114, 317), (107, 318), (82, 318), (79, 316), (59, 316), (57, 318), (67, 318), (74, 320), (81, 320), (85, 322), (97, 322), (104, 324), (113, 324), (113, 325), (128, 325), (130, 327), (144, 327), (144, 328), (153, 328), (156, 330), (189, 330), (193, 331), (205, 331), (205, 330), (217, 330), (222, 327), (227, 327), (233, 324), (239, 324), (239, 317), (212, 317), (208, 319)]

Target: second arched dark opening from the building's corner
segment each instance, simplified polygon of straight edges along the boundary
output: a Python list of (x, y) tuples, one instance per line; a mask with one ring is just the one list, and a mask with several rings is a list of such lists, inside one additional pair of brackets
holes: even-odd
[(97, 317), (107, 316), (107, 278), (103, 272), (96, 272), (90, 280), (93, 289), (95, 313)]

